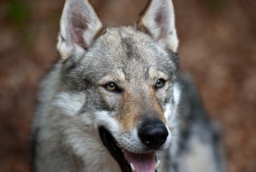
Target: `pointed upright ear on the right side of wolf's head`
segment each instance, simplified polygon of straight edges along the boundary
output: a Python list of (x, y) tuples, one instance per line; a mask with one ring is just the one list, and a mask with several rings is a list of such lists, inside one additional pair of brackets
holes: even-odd
[(139, 19), (138, 27), (142, 32), (150, 34), (162, 46), (177, 52), (179, 39), (175, 28), (172, 0), (150, 0)]

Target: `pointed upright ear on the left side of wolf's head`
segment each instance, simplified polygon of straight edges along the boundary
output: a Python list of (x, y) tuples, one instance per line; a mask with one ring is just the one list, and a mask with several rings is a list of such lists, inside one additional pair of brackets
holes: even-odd
[(89, 0), (66, 0), (57, 44), (61, 58), (65, 60), (72, 53), (84, 53), (102, 27)]

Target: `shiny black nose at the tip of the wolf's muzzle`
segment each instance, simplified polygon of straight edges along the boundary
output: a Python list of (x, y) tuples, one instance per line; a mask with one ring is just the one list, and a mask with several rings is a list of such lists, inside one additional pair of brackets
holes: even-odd
[(168, 131), (162, 121), (144, 121), (139, 129), (141, 142), (151, 149), (157, 149), (165, 143)]

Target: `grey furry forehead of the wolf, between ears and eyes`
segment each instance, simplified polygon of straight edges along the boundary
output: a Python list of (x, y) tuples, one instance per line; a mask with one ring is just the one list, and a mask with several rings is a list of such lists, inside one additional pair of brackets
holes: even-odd
[(172, 67), (167, 51), (133, 27), (107, 29), (96, 40), (84, 64), (90, 70), (98, 70), (99, 78), (122, 71), (126, 79), (147, 78), (152, 68), (162, 68), (169, 73)]

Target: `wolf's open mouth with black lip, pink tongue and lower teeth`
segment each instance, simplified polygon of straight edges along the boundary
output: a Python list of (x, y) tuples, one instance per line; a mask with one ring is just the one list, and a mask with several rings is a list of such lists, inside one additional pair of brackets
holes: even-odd
[(153, 172), (157, 171), (160, 161), (156, 159), (155, 152), (134, 154), (120, 147), (115, 138), (104, 127), (98, 128), (103, 145), (117, 161), (122, 172)]

